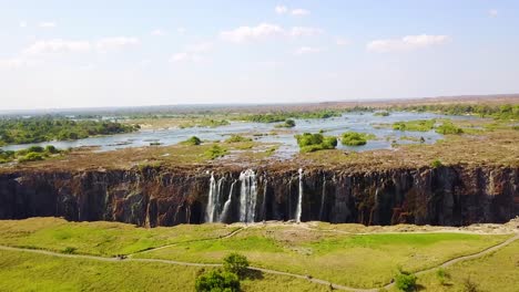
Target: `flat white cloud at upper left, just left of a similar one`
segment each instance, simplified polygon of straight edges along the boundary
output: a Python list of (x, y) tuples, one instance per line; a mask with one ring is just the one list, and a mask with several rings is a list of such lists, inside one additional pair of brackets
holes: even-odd
[(65, 41), (65, 40), (49, 40), (38, 41), (22, 51), (24, 55), (43, 55), (43, 54), (63, 54), (88, 52), (91, 44), (88, 41)]

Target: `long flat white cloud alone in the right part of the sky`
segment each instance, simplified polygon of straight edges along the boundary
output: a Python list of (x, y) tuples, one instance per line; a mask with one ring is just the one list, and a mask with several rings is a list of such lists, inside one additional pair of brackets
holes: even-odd
[(447, 35), (406, 35), (401, 39), (375, 40), (367, 44), (367, 50), (377, 53), (391, 51), (410, 51), (432, 45), (439, 45), (447, 42)]

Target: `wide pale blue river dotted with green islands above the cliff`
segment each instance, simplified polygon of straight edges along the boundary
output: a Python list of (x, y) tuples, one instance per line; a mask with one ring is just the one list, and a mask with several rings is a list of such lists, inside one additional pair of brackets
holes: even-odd
[[(96, 136), (79, 140), (47, 142), (39, 144), (9, 145), (2, 147), (4, 150), (18, 150), (32, 145), (54, 145), (58, 148), (95, 146), (99, 152), (114, 150), (125, 147), (143, 147), (150, 143), (161, 145), (174, 145), (191, 136), (197, 136), (202, 140), (222, 140), (232, 134), (241, 134), (254, 137), (258, 142), (279, 143), (281, 147), (276, 152), (278, 157), (289, 157), (298, 152), (294, 135), (301, 133), (317, 133), (324, 131), (325, 135), (340, 136), (340, 134), (354, 131), (374, 134), (375, 139), (369, 140), (364, 146), (343, 146), (337, 148), (352, 149), (357, 152), (372, 149), (389, 149), (393, 143), (410, 144), (420, 143), (424, 137), (425, 143), (431, 144), (440, 139), (442, 135), (435, 131), (429, 132), (401, 132), (394, 131), (391, 124), (400, 121), (431, 119), (431, 118), (476, 118), (467, 116), (447, 116), (432, 113), (410, 113), (393, 112), (389, 116), (376, 116), (373, 113), (347, 113), (340, 117), (318, 118), (318, 119), (295, 119), (296, 126), (289, 129), (275, 128), (275, 124), (232, 122), (230, 125), (220, 127), (191, 127), (191, 128), (164, 128), (164, 129), (141, 129), (130, 134), (119, 134), (112, 136)], [(385, 126), (384, 126), (385, 124)], [(383, 126), (380, 126), (383, 125)], [(276, 135), (260, 135), (277, 132)], [(256, 135), (254, 135), (256, 134)], [(409, 138), (411, 137), (411, 138)]]

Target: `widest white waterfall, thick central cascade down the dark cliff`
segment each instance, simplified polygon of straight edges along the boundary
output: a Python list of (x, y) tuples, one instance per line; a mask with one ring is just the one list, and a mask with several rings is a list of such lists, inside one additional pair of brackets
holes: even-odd
[(240, 221), (254, 222), (257, 199), (257, 182), (254, 170), (242, 171), (240, 182)]

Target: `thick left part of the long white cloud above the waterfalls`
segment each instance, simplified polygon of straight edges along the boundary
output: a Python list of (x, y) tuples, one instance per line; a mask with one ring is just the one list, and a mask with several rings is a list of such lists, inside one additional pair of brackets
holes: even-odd
[(220, 36), (230, 42), (242, 43), (282, 35), (283, 33), (284, 30), (277, 24), (261, 23), (257, 27), (240, 27), (231, 31), (223, 31), (220, 33)]

